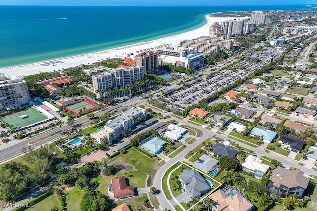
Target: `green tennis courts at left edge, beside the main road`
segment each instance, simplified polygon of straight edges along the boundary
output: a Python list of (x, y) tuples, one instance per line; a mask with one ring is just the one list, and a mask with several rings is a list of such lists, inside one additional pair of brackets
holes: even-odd
[(45, 119), (48, 119), (48, 117), (35, 108), (30, 108), (26, 111), (20, 111), (5, 117), (1, 117), (1, 121), (4, 124), (8, 123), (9, 125), (13, 125), (13, 127), (11, 127), (12, 129), (32, 125)]

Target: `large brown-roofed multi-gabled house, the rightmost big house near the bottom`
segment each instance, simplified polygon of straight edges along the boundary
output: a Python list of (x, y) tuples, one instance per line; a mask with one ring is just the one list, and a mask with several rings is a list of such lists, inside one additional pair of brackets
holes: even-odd
[(288, 196), (302, 198), (308, 183), (309, 178), (304, 177), (303, 171), (289, 170), (277, 166), (272, 172), (267, 190), (269, 193), (282, 198)]

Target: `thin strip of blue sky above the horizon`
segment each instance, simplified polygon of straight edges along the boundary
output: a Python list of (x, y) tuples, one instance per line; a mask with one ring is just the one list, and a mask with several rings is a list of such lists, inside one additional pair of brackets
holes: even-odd
[(0, 5), (61, 6), (212, 6), (317, 4), (316, 0), (0, 0)]

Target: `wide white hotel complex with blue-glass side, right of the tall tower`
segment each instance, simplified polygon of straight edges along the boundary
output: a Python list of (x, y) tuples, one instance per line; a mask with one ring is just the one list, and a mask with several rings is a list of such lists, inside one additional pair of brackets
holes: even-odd
[(162, 47), (158, 49), (158, 53), (159, 65), (171, 63), (176, 67), (183, 66), (193, 70), (198, 70), (204, 65), (204, 56), (197, 52), (197, 47)]

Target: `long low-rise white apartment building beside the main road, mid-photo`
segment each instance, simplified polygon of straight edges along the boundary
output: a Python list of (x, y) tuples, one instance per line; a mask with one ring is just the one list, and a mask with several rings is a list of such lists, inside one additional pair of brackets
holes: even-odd
[(120, 138), (121, 131), (126, 132), (129, 128), (133, 128), (139, 117), (146, 118), (146, 116), (147, 110), (143, 108), (131, 108), (125, 111), (121, 116), (110, 120), (104, 128), (93, 132), (90, 136), (93, 137), (98, 144), (111, 145), (113, 140)]

